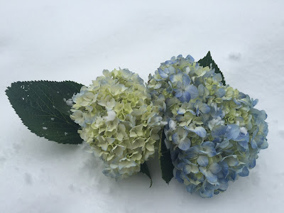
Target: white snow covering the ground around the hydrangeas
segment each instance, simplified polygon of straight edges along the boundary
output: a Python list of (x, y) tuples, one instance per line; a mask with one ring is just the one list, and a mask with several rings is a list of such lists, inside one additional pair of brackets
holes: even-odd
[[(282, 212), (284, 1), (0, 1), (0, 212)], [(138, 174), (115, 182), (84, 145), (31, 133), (4, 90), (11, 82), (92, 83), (129, 68), (144, 80), (173, 55), (210, 50), (227, 84), (258, 98), (268, 149), (249, 177), (212, 199)], [(67, 98), (67, 97), (66, 97)], [(282, 209), (282, 210), (281, 210)]]

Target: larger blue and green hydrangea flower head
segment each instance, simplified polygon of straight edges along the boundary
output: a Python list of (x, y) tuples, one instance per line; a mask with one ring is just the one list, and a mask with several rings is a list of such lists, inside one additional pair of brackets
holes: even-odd
[(187, 191), (212, 197), (229, 180), (249, 175), (261, 149), (267, 148), (266, 112), (237, 89), (223, 86), (222, 76), (179, 55), (149, 76), (154, 100), (165, 100), (165, 144), (173, 174)]

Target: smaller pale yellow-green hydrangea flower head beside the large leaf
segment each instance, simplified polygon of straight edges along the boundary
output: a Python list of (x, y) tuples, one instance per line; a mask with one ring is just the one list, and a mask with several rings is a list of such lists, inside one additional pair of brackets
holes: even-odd
[(71, 119), (94, 155), (104, 161), (104, 175), (120, 180), (138, 173), (155, 152), (161, 107), (151, 102), (143, 80), (129, 70), (104, 70), (72, 97)]

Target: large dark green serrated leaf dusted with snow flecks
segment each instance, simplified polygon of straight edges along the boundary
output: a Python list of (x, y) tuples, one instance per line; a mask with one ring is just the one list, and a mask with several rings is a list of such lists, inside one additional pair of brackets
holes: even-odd
[(23, 124), (37, 136), (58, 143), (82, 143), (80, 126), (70, 119), (66, 100), (80, 92), (76, 82), (14, 82), (6, 95)]

